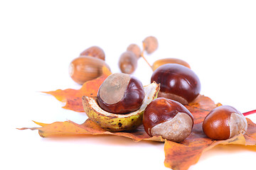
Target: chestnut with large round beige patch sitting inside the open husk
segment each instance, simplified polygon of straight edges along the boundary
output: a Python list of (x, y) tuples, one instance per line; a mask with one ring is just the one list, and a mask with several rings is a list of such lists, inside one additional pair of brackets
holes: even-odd
[(145, 97), (142, 82), (124, 73), (111, 74), (97, 93), (97, 102), (109, 113), (124, 114), (137, 111)]

